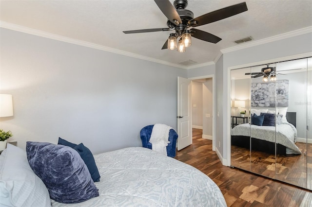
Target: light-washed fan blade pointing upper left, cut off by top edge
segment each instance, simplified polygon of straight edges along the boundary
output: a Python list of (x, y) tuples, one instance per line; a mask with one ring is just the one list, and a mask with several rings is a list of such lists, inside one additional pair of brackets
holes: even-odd
[(174, 24), (179, 25), (182, 20), (174, 5), (169, 0), (154, 0), (164, 15)]

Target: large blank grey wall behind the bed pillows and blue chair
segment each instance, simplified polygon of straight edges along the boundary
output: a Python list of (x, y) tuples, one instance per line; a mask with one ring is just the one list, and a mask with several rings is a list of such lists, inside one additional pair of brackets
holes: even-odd
[(14, 116), (0, 119), (9, 141), (58, 138), (93, 153), (141, 146), (148, 124), (176, 129), (177, 76), (187, 70), (0, 29), (0, 93)]

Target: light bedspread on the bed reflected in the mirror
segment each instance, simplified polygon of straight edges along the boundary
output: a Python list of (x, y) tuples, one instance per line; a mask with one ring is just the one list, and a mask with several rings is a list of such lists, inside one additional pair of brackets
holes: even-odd
[[(276, 131), (275, 131), (276, 130)], [(276, 132), (276, 135), (275, 135)], [(283, 122), (275, 126), (257, 126), (249, 123), (239, 124), (231, 130), (231, 135), (258, 138), (275, 142), (291, 149), (292, 154), (301, 155), (300, 149), (294, 144), (297, 139), (296, 128), (288, 122)]]

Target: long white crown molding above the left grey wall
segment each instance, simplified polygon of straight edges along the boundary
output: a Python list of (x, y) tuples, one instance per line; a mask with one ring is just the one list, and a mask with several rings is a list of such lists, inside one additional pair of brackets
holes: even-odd
[(43, 32), (40, 30), (20, 26), (17, 24), (12, 24), (12, 23), (5, 22), (5, 21), (0, 21), (0, 27), (5, 28), (5, 29), (9, 29), (9, 30), (22, 32), (22, 33), (27, 33), (30, 35), (41, 36), (41, 37), (45, 37), (45, 38), (49, 38), (49, 39), (59, 40), (62, 42), (67, 42), (67, 43), (71, 43), (71, 44), (75, 44), (75, 45), (93, 48), (93, 49), (97, 49), (97, 50), (101, 50), (101, 51), (113, 52), (116, 54), (121, 54), (121, 55), (129, 56), (129, 57), (147, 60), (147, 61), (151, 61), (151, 62), (155, 62), (155, 63), (167, 65), (167, 66), (172, 66), (172, 67), (181, 68), (181, 69), (188, 69), (188, 67), (181, 66), (178, 64), (174, 64), (174, 63), (170, 63), (167, 61), (158, 60), (156, 58), (151, 58), (151, 57), (147, 57), (144, 55), (138, 55), (138, 54), (135, 54), (132, 52), (125, 52), (125, 51), (117, 50), (114, 48), (109, 48), (109, 47), (101, 46), (98, 44), (94, 44), (94, 43), (90, 43), (90, 42), (86, 42), (86, 41), (82, 41), (82, 40), (78, 40), (78, 39), (74, 39), (74, 38), (69, 38), (69, 37), (62, 36), (62, 35), (56, 35), (53, 33)]

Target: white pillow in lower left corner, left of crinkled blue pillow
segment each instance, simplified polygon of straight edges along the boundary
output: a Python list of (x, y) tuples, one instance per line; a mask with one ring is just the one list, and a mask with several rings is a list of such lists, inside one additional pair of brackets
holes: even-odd
[(51, 207), (49, 191), (30, 168), (26, 152), (8, 143), (3, 156), (0, 206)]

